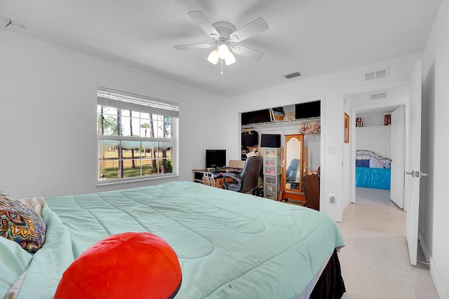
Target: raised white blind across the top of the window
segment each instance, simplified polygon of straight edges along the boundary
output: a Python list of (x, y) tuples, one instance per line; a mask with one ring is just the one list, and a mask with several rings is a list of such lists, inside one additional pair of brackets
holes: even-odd
[(163, 99), (102, 87), (99, 87), (97, 90), (97, 98), (98, 104), (102, 106), (179, 118), (178, 104)]

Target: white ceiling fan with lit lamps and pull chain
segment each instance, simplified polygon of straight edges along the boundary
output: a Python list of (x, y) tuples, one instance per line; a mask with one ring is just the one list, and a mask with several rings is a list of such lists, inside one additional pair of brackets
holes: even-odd
[[(189, 11), (187, 15), (189, 15), (189, 17), (192, 18), (192, 20), (194, 20), (194, 22), (196, 22), (208, 36), (212, 37), (214, 42), (173, 46), (176, 50), (205, 49), (215, 46), (215, 49), (208, 56), (208, 61), (212, 64), (217, 64), (218, 60), (220, 60), (222, 66), (223, 60), (226, 65), (236, 62), (233, 53), (253, 60), (260, 60), (264, 55), (263, 52), (252, 48), (234, 45), (234, 43), (239, 43), (255, 34), (267, 30), (268, 24), (264, 19), (257, 18), (253, 20), (253, 22), (236, 30), (236, 27), (229, 22), (219, 21), (211, 24), (201, 11)], [(223, 74), (223, 71), (221, 71), (221, 74)]]

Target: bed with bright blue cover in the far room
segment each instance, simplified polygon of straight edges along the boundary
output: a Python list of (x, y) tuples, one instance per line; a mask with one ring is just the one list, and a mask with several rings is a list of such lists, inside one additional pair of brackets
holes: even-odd
[(356, 187), (390, 190), (391, 159), (368, 150), (356, 151)]

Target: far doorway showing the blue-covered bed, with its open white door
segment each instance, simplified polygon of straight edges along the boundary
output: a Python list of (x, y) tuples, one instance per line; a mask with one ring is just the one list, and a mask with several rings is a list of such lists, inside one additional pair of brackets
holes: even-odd
[[(391, 195), (388, 195), (389, 199), (403, 209), (404, 106), (387, 105), (370, 109), (357, 107), (354, 111), (356, 127), (353, 141), (355, 145), (354, 157), (351, 155), (351, 160), (366, 160), (356, 160), (351, 188), (361, 186), (387, 190), (388, 193), (391, 192)], [(356, 155), (361, 152), (363, 157)], [(355, 190), (352, 192), (355, 195)], [(354, 196), (351, 202), (355, 201)]]

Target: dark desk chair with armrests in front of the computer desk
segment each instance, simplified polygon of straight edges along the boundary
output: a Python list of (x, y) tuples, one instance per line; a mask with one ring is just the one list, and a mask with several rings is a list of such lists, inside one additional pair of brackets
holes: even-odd
[[(223, 189), (241, 193), (251, 193), (257, 188), (259, 183), (262, 162), (262, 157), (250, 157), (245, 160), (245, 167), (243, 167), (240, 176), (236, 176), (236, 174), (232, 173), (223, 173)], [(228, 178), (231, 178), (232, 181)]]

